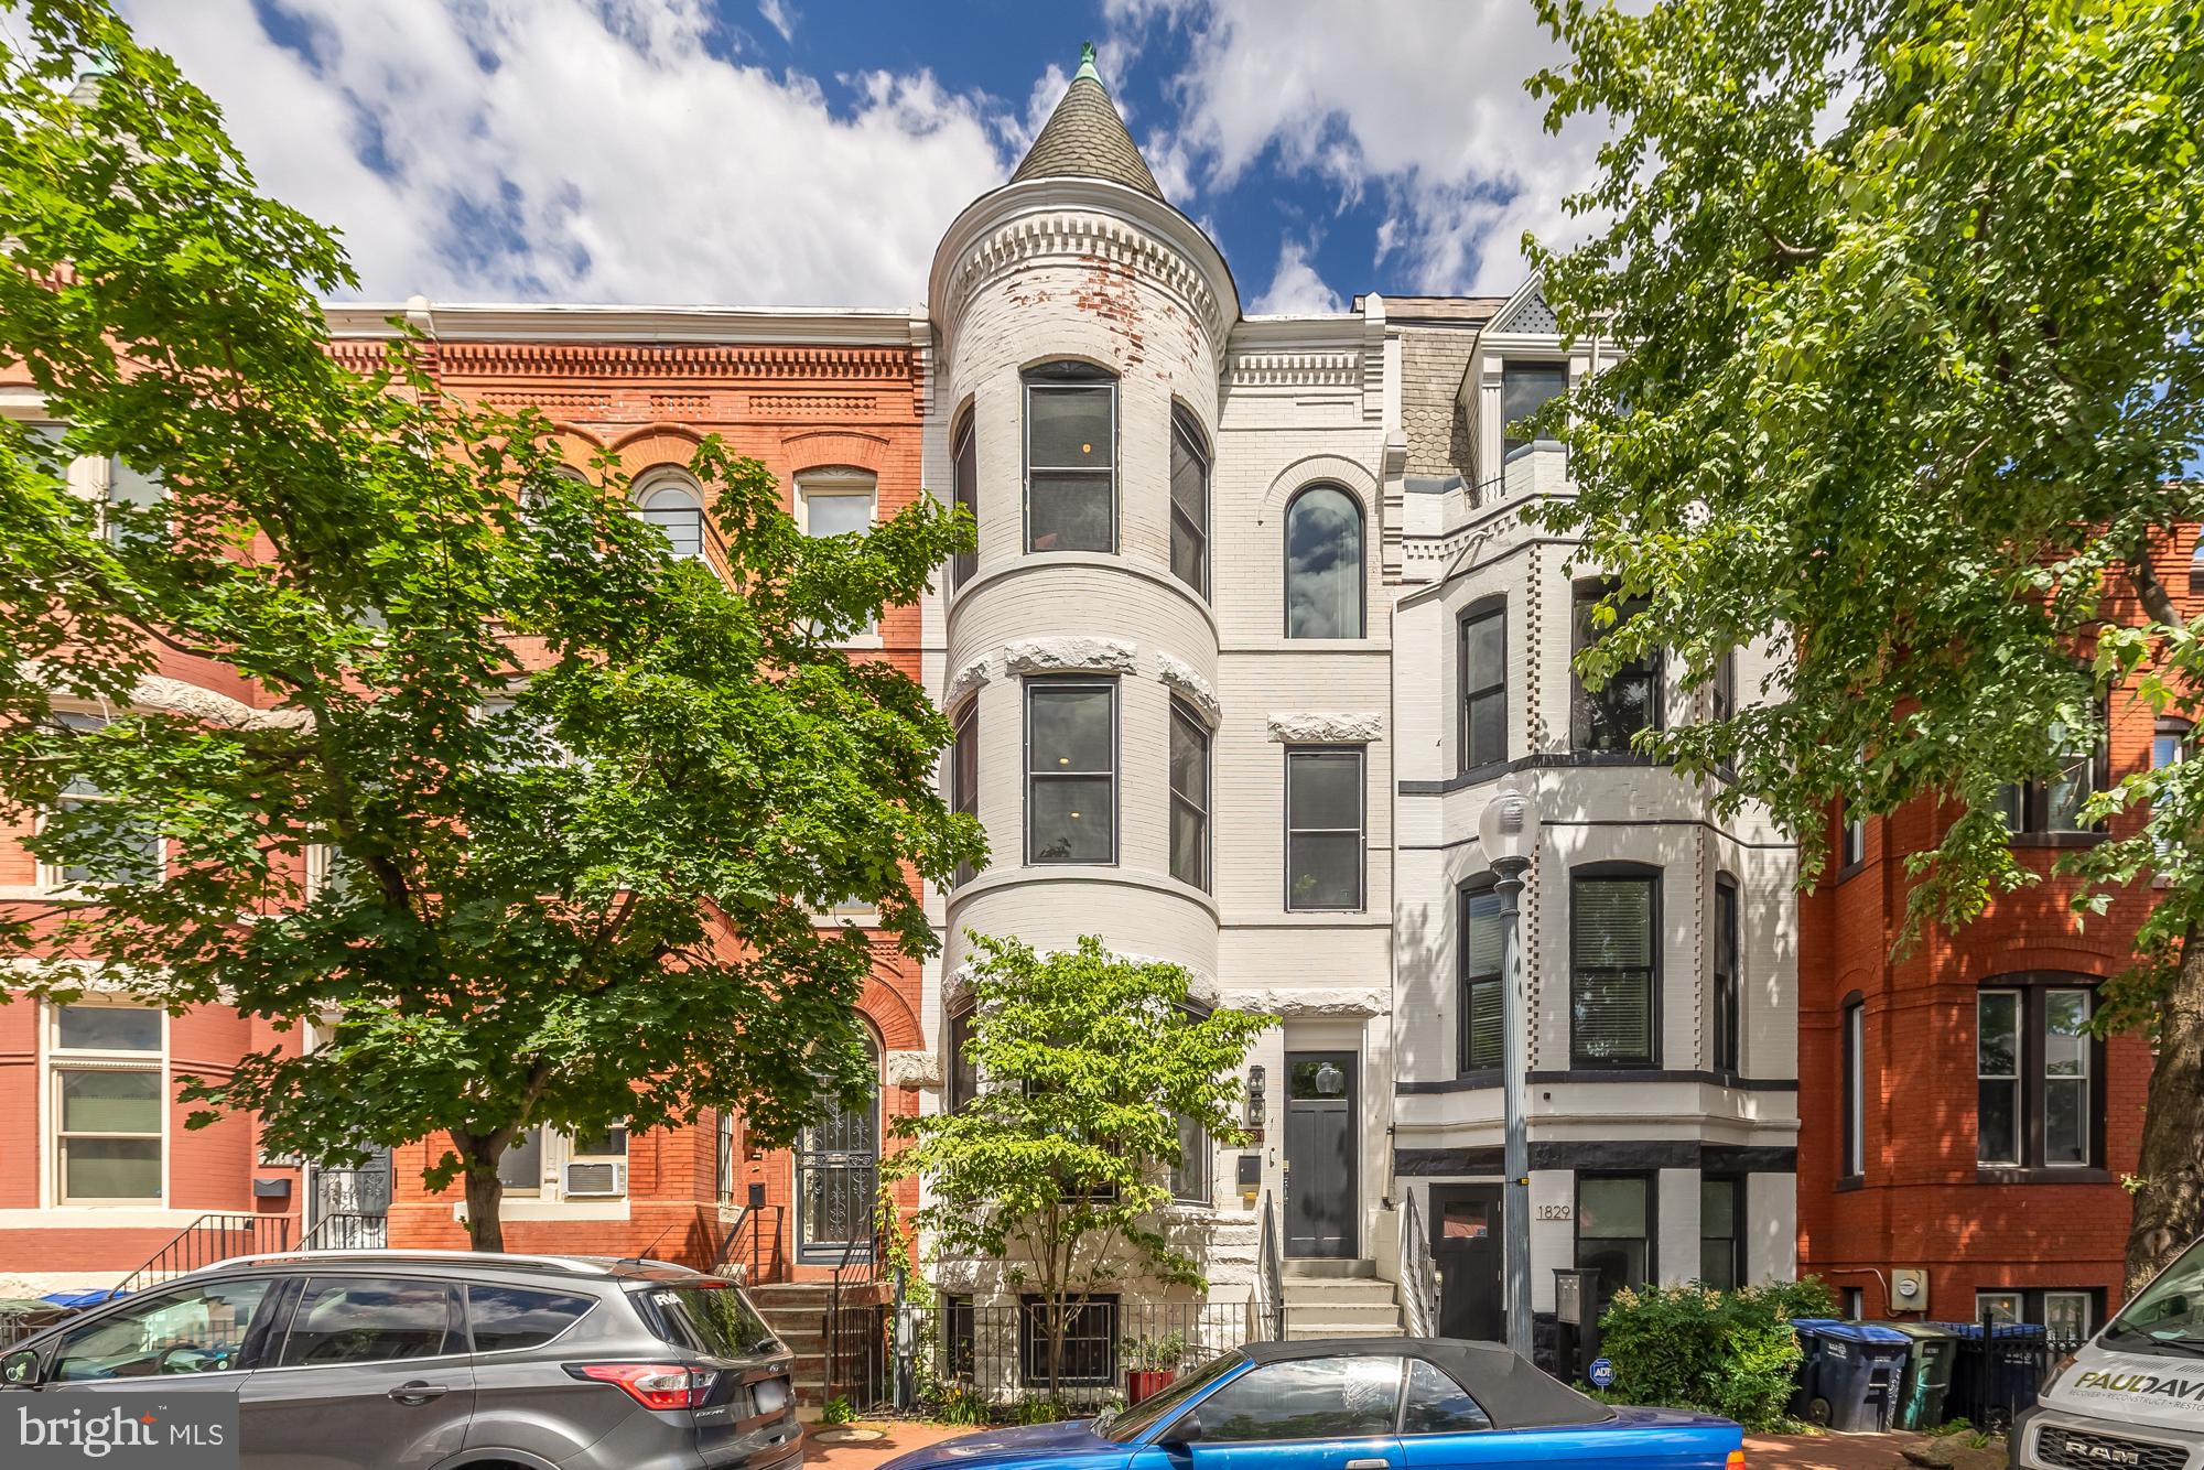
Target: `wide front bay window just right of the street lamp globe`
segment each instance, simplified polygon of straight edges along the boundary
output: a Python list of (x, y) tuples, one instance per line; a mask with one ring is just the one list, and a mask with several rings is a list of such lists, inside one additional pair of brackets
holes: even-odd
[(1651, 1067), (1660, 1020), (1660, 871), (1569, 879), (1569, 1060)]

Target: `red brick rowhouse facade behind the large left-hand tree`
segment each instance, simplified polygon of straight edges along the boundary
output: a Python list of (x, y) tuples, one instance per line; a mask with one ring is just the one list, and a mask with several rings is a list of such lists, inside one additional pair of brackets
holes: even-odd
[[(417, 304), (419, 306), (419, 304)], [(498, 408), (540, 408), (558, 428), (577, 467), (599, 452), (617, 454), (622, 469), (644, 478), (659, 467), (681, 467), (705, 434), (732, 452), (763, 461), (796, 509), (798, 483), (809, 472), (838, 469), (871, 476), (875, 514), (893, 516), (921, 494), (923, 350), (895, 315), (793, 317), (774, 313), (624, 313), (555, 309), (419, 311), (432, 337), (430, 370), (458, 399)], [(359, 364), (379, 353), (368, 342), (386, 335), (379, 313), (335, 313), (337, 353)], [(357, 342), (357, 346), (353, 346)], [(853, 476), (842, 476), (844, 485)], [(710, 542), (716, 527), (707, 529)], [(890, 608), (877, 630), (877, 657), (917, 679), (919, 610)], [(163, 674), (260, 703), (231, 670), (170, 659)], [(0, 904), (37, 893), (37, 871), (20, 833), (0, 831)], [(915, 961), (877, 941), (875, 979), (860, 1009), (882, 1058), (923, 1051), (919, 1025), (921, 972)], [(51, 1069), (42, 1031), (51, 1009), (18, 1003), (0, 1007), (0, 1287), (53, 1289), (104, 1285), (141, 1265), (196, 1214), (291, 1214), (298, 1239), (306, 1181), (302, 1170), (262, 1161), (256, 1126), (247, 1117), (187, 1131), (187, 1109), (172, 1104), (165, 1144), (165, 1197), (159, 1208), (55, 1208), (55, 1144), (48, 1120)], [(168, 1025), (170, 1076), (218, 1076), (240, 1053), (276, 1045), (264, 1023), (201, 1009)], [(917, 1113), (917, 1093), (882, 1089), (882, 1135), (888, 1120)], [(395, 1150), (390, 1245), (463, 1245), (458, 1188), (428, 1195), (423, 1168), (445, 1148), (421, 1139)], [(721, 1201), (716, 1120), (696, 1128), (628, 1139), (628, 1181), (619, 1199), (562, 1201), (547, 1186), (542, 1199), (516, 1199), (505, 1225), (507, 1250), (641, 1254), (701, 1263), (712, 1256), (747, 1186), (765, 1186), (767, 1219), (782, 1232), (782, 1256), (796, 1258), (793, 1159), (789, 1153), (752, 1155), (736, 1131), (732, 1206)], [(284, 1181), (282, 1195), (256, 1199), (253, 1181)], [(269, 1188), (269, 1186), (264, 1186)], [(284, 1186), (273, 1186), (284, 1188)], [(915, 1186), (906, 1208), (915, 1208)], [(798, 1265), (798, 1278), (831, 1267)], [(0, 1296), (13, 1294), (0, 1289)]]

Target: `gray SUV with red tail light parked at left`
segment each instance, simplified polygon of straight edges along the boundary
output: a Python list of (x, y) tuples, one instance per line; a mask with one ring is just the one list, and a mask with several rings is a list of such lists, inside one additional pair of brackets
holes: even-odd
[(0, 1358), (0, 1406), (101, 1415), (101, 1395), (145, 1388), (234, 1393), (242, 1470), (802, 1459), (789, 1351), (736, 1283), (663, 1261), (245, 1256)]

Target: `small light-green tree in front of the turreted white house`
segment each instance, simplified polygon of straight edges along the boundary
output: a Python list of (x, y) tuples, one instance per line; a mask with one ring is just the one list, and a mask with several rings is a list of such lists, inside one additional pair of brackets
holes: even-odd
[[(1049, 1393), (1071, 1320), (1131, 1272), (1201, 1287), (1201, 1263), (1164, 1230), (1170, 1170), (1199, 1148), (1245, 1139), (1236, 1067), (1274, 1018), (1203, 1012), (1179, 965), (1111, 954), (1095, 937), (1058, 954), (974, 937), (972, 1034), (979, 1095), (906, 1117), (908, 1146), (882, 1161), (919, 1177), (917, 1225), (937, 1254), (992, 1256), (1038, 1298)], [(1184, 1128), (1181, 1128), (1184, 1122)]]

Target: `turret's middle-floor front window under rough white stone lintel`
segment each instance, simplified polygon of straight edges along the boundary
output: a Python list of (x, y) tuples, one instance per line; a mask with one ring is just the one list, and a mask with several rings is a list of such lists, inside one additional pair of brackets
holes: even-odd
[(1025, 862), (1117, 862), (1117, 681), (1025, 681)]

